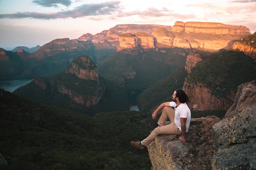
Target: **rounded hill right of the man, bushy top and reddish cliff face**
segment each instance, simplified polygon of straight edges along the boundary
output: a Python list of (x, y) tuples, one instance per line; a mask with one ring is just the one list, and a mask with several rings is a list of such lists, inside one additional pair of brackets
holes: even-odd
[(240, 84), (255, 79), (256, 64), (239, 51), (207, 56), (191, 68), (183, 89), (188, 106), (197, 110), (227, 110)]

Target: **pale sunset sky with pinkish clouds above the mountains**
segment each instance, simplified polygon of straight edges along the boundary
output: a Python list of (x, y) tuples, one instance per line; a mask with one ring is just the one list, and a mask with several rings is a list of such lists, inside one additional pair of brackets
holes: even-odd
[(256, 0), (0, 0), (0, 47), (77, 39), (119, 24), (221, 22), (256, 31)]

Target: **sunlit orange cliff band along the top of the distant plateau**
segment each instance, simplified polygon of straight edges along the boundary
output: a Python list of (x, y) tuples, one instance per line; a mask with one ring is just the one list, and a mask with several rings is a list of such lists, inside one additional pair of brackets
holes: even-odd
[[(138, 32), (147, 35), (137, 37), (136, 33)], [(124, 38), (123, 34), (126, 33), (136, 35), (135, 37), (141, 39), (141, 41), (132, 42), (127, 37)], [(184, 23), (176, 21), (173, 27), (161, 25), (117, 25), (93, 36), (85, 34), (79, 37), (78, 40), (91, 40), (93, 43), (108, 41), (113, 46), (116, 46), (117, 51), (124, 48), (172, 46), (217, 51), (221, 48), (229, 48), (230, 42), (248, 35), (250, 35), (250, 30), (244, 26), (231, 26), (218, 22)]]

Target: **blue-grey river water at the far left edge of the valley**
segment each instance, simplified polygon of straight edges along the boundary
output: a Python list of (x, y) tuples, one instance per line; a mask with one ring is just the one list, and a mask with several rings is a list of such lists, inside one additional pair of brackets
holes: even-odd
[(30, 83), (33, 79), (22, 79), (22, 80), (6, 80), (0, 81), (0, 88), (6, 91), (13, 92), (17, 88)]

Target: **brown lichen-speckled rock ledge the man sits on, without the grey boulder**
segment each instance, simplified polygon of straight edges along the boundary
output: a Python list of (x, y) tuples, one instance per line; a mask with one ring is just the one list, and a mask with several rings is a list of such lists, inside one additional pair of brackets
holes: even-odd
[(192, 118), (186, 142), (177, 135), (159, 135), (147, 147), (152, 169), (210, 169), (214, 155), (211, 128), (216, 116)]

